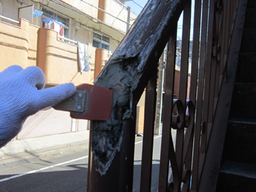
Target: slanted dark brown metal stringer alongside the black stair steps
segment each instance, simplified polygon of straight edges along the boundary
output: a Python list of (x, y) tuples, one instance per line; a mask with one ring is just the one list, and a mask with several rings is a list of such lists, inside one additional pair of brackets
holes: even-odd
[[(237, 2), (235, 2), (235, 5)], [(237, 47), (240, 47), (244, 18), (246, 13), (247, 0), (239, 1), (237, 6), (237, 22), (234, 23), (233, 39), (230, 43), (230, 53), (227, 58), (227, 79), (223, 80), (220, 90), (219, 104), (216, 108), (213, 131), (209, 140), (208, 153), (206, 156), (205, 169), (202, 172), (202, 180), (199, 191), (216, 191), (218, 170), (223, 152), (223, 145), (227, 130), (227, 119), (230, 111), (230, 102), (234, 88), (234, 80), (237, 72), (238, 54)]]

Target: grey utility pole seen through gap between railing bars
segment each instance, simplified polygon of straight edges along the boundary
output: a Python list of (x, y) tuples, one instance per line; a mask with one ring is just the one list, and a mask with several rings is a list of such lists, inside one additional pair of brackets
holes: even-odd
[(155, 128), (154, 135), (159, 135), (161, 132), (161, 116), (163, 106), (163, 84), (164, 84), (164, 60), (165, 60), (165, 49), (159, 59), (158, 67), (158, 80), (157, 80), (157, 106), (156, 106), (156, 117), (155, 117)]

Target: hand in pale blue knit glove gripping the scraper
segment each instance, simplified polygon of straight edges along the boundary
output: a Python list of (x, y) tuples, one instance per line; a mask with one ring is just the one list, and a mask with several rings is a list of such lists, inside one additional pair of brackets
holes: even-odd
[(29, 115), (56, 105), (74, 94), (74, 84), (43, 89), (45, 77), (38, 67), (11, 66), (0, 73), (0, 147), (13, 139)]

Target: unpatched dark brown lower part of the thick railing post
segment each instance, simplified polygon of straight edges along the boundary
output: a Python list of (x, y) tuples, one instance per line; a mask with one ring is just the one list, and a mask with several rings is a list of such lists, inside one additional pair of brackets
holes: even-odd
[[(133, 111), (134, 117), (136, 110)], [(123, 122), (123, 141), (121, 150), (112, 159), (107, 174), (95, 170), (95, 154), (90, 153), (87, 191), (132, 191), (133, 190), (133, 152), (135, 138), (135, 118)], [(91, 135), (92, 137), (92, 135)]]

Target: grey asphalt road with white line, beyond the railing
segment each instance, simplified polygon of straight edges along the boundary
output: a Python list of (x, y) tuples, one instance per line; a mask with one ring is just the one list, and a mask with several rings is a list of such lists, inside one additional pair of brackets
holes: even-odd
[[(157, 191), (161, 137), (154, 139), (152, 191)], [(133, 191), (140, 189), (142, 138), (136, 139)], [(33, 163), (0, 171), (0, 191), (86, 191), (88, 149), (43, 156)]]

